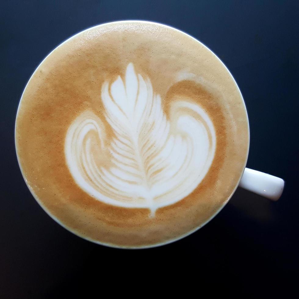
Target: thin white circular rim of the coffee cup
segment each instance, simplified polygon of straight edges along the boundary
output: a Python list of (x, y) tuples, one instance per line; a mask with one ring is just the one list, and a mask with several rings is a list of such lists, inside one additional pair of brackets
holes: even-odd
[[(246, 159), (245, 159), (245, 162), (244, 162), (244, 165), (243, 165), (243, 171), (241, 172), (241, 175), (240, 175), (240, 178), (238, 179), (238, 182), (235, 186), (235, 188), (233, 189), (232, 193), (230, 194), (230, 196), (227, 198), (227, 200), (225, 201), (224, 204), (222, 204), (222, 206), (220, 206), (218, 208), (218, 210), (216, 212), (214, 212), (214, 214), (208, 218), (204, 223), (202, 223), (201, 225), (197, 226), (195, 229), (189, 231), (189, 232), (186, 232), (185, 234), (177, 237), (177, 238), (174, 238), (174, 239), (171, 239), (171, 240), (167, 240), (165, 242), (160, 242), (160, 243), (156, 243), (156, 244), (151, 244), (151, 245), (141, 245), (141, 246), (119, 246), (119, 245), (116, 245), (116, 244), (112, 244), (112, 243), (104, 243), (104, 242), (100, 242), (100, 241), (97, 241), (97, 240), (93, 240), (92, 238), (89, 238), (87, 236), (82, 236), (80, 233), (78, 232), (75, 232), (73, 229), (71, 229), (70, 227), (68, 227), (67, 225), (63, 224), (62, 222), (60, 222), (60, 220), (58, 218), (56, 218), (53, 214), (51, 214), (48, 209), (44, 206), (44, 204), (41, 202), (41, 200), (39, 200), (38, 196), (36, 196), (33, 192), (33, 190), (30, 188), (30, 186), (28, 185), (28, 182), (27, 182), (27, 179), (24, 175), (24, 172), (23, 172), (23, 168), (20, 164), (20, 159), (19, 159), (19, 156), (18, 156), (18, 153), (17, 153), (17, 144), (16, 144), (16, 121), (17, 121), (17, 118), (18, 118), (18, 114), (19, 114), (19, 110), (20, 110), (20, 104), (21, 104), (21, 101), (22, 101), (22, 98), (23, 98), (23, 95), (24, 95), (24, 92), (27, 88), (27, 85), (30, 83), (32, 77), (34, 76), (34, 74), (37, 72), (37, 70), (39, 69), (39, 67), (42, 65), (42, 63), (56, 50), (58, 49), (60, 46), (62, 46), (63, 44), (69, 42), (70, 40), (72, 40), (73, 38), (75, 38), (76, 36), (78, 36), (79, 34), (82, 34), (84, 32), (87, 32), (89, 30), (93, 30), (95, 28), (99, 28), (99, 27), (102, 27), (102, 26), (107, 26), (107, 25), (110, 25), (110, 24), (115, 24), (115, 23), (131, 23), (131, 22), (138, 22), (138, 23), (148, 23), (148, 24), (156, 24), (156, 25), (159, 25), (159, 26), (162, 26), (162, 27), (167, 27), (167, 28), (171, 28), (175, 31), (178, 31), (182, 34), (185, 34), (187, 35), (189, 38), (192, 38), (194, 41), (200, 43), (201, 45), (203, 45), (207, 50), (209, 50), (214, 56), (216, 59), (219, 60), (220, 63), (222, 63), (222, 65), (225, 67), (225, 69), (227, 70), (227, 72), (229, 73), (229, 75), (231, 76), (233, 82), (235, 83), (239, 93), (240, 93), (240, 96), (241, 96), (241, 99), (242, 99), (242, 102), (243, 102), (243, 106), (244, 106), (244, 109), (245, 109), (245, 112), (246, 112), (246, 117), (247, 117), (247, 130), (248, 130), (248, 142), (247, 142), (247, 153), (246, 153)], [(217, 216), (220, 211), (222, 211), (222, 209), (226, 206), (226, 204), (229, 202), (229, 200), (231, 199), (231, 197), (233, 196), (233, 194), (235, 193), (237, 187), (239, 186), (240, 184), (240, 180), (243, 176), (243, 172), (245, 170), (245, 167), (246, 167), (246, 164), (247, 164), (247, 160), (248, 160), (248, 154), (249, 154), (249, 146), (250, 146), (250, 128), (249, 128), (249, 118), (248, 118), (248, 113), (247, 113), (247, 108), (246, 108), (246, 105), (245, 105), (245, 101), (244, 101), (244, 98), (243, 98), (243, 95), (241, 93), (241, 90), (235, 80), (235, 78), (233, 77), (232, 73), (230, 72), (230, 70), (228, 69), (228, 67), (222, 62), (222, 60), (207, 46), (205, 45), (203, 42), (199, 41), (197, 38), (193, 37), (192, 35), (176, 28), (176, 27), (173, 27), (173, 26), (170, 26), (170, 25), (167, 25), (167, 24), (164, 24), (164, 23), (159, 23), (159, 22), (153, 22), (153, 21), (147, 21), (147, 20), (118, 20), (118, 21), (112, 21), (112, 22), (106, 22), (106, 23), (101, 23), (101, 24), (98, 24), (98, 25), (95, 25), (95, 26), (92, 26), (92, 27), (88, 27), (87, 29), (84, 29), (82, 31), (79, 31), (78, 33), (70, 36), (69, 38), (67, 38), (66, 40), (64, 40), (63, 42), (61, 42), (59, 45), (57, 45), (51, 52), (49, 52), (44, 59), (42, 59), (42, 61), (38, 64), (38, 66), (34, 69), (34, 72), (31, 74), (29, 80), (27, 81), (24, 89), (23, 89), (23, 92), (22, 92), (22, 95), (20, 97), (20, 101), (19, 101), (19, 104), (18, 104), (18, 108), (17, 108), (17, 112), (16, 112), (16, 119), (15, 119), (15, 130), (14, 130), (14, 141), (15, 141), (15, 153), (16, 153), (16, 157), (17, 157), (17, 161), (18, 161), (18, 164), (19, 164), (19, 168), (20, 168), (20, 171), (21, 171), (21, 174), (23, 176), (23, 179), (30, 191), (30, 193), (32, 194), (32, 196), (34, 197), (34, 199), (37, 201), (37, 203), (40, 205), (40, 207), (46, 212), (46, 214), (48, 214), (50, 216), (50, 218), (52, 218), (56, 223), (58, 223), (59, 225), (61, 225), (64, 229), (66, 229), (67, 231), (71, 232), (72, 234), (74, 234), (75, 236), (78, 236), (82, 239), (85, 239), (87, 241), (90, 241), (92, 243), (95, 243), (95, 244), (99, 244), (99, 245), (103, 245), (103, 246), (106, 246), (106, 247), (111, 247), (111, 248), (117, 248), (117, 249), (148, 249), (148, 248), (155, 248), (155, 247), (160, 247), (160, 246), (164, 246), (164, 245), (167, 245), (167, 244), (171, 244), (171, 243), (174, 243), (176, 241), (179, 241), (181, 239), (184, 239), (185, 237), (193, 234), (194, 232), (198, 231), (199, 229), (201, 229), (202, 227), (204, 227), (207, 223), (209, 223), (215, 216)]]

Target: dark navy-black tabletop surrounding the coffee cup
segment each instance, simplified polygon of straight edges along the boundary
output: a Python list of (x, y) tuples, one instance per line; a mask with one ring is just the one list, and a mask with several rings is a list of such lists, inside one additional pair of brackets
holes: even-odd
[[(85, 288), (95, 288), (96, 296), (103, 290), (141, 295), (136, 286), (152, 295), (161, 285), (167, 292), (177, 290), (186, 279), (185, 291), (195, 288), (196, 296), (205, 289), (211, 296), (221, 292), (238, 298), (296, 297), (286, 294), (299, 278), (297, 1), (0, 3), (1, 298), (68, 297)], [(247, 167), (285, 179), (278, 202), (237, 189), (204, 228), (146, 250), (90, 243), (41, 209), (23, 181), (14, 149), (23, 88), (62, 41), (93, 25), (123, 19), (177, 27), (222, 59), (247, 106)]]

